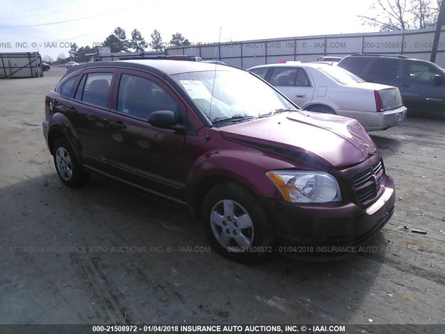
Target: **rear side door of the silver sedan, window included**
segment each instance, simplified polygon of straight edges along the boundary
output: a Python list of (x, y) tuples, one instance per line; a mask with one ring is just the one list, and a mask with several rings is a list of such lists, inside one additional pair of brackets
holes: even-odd
[(312, 101), (314, 85), (302, 67), (273, 67), (268, 81), (298, 106)]

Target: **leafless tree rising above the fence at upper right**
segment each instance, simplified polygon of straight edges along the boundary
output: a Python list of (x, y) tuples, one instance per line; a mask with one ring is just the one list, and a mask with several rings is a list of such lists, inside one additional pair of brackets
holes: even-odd
[(375, 0), (369, 15), (358, 15), (364, 24), (380, 31), (435, 26), (441, 0)]

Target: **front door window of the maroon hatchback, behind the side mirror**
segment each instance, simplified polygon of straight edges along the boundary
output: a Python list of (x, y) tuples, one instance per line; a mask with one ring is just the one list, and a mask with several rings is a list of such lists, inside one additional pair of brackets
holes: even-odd
[(118, 95), (120, 113), (147, 120), (150, 113), (159, 110), (178, 113), (179, 108), (175, 100), (153, 81), (122, 74)]

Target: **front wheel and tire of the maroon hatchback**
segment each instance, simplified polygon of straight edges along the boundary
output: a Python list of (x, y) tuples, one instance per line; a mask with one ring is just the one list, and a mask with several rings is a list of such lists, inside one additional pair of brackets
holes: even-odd
[[(234, 203), (232, 218), (224, 211), (226, 202)], [(276, 234), (267, 217), (256, 196), (236, 182), (216, 186), (209, 191), (202, 205), (202, 223), (213, 249), (239, 262), (261, 260), (272, 253)], [(243, 228), (241, 224), (249, 219), (252, 228)], [(218, 235), (222, 242), (229, 239), (227, 246), (218, 241)], [(242, 246), (238, 244), (240, 239), (246, 242)]]

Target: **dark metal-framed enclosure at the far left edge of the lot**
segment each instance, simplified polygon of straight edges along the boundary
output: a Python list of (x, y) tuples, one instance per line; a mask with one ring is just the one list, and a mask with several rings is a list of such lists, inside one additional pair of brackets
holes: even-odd
[(38, 52), (0, 53), (0, 79), (43, 77)]

